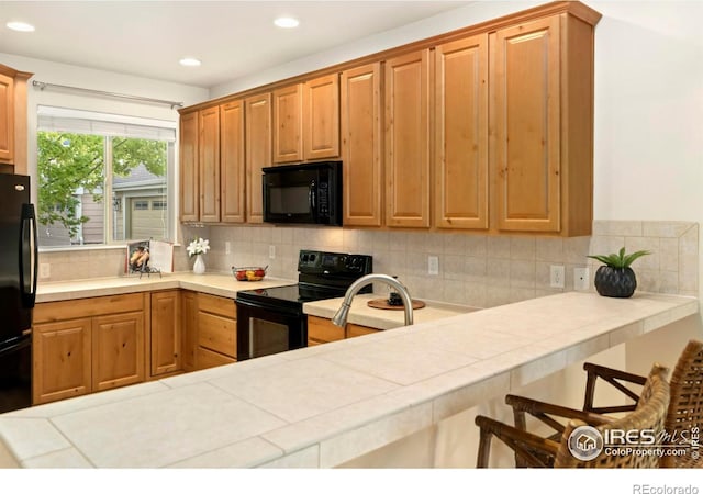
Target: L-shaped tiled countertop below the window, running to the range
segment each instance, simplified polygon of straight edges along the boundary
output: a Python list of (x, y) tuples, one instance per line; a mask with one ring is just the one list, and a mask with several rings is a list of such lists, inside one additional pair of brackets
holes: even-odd
[(234, 299), (239, 290), (267, 289), (295, 283), (298, 283), (297, 280), (268, 277), (261, 281), (237, 281), (230, 273), (176, 272), (164, 273), (161, 277), (144, 274), (142, 278), (138, 274), (131, 274), (89, 280), (40, 282), (36, 290), (36, 302), (56, 302), (178, 288)]

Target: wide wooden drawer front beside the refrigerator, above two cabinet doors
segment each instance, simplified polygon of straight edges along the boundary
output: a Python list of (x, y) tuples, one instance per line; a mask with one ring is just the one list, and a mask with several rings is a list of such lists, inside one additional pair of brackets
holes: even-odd
[(91, 299), (45, 302), (36, 304), (33, 312), (34, 324), (92, 317), (105, 314), (121, 314), (144, 310), (144, 294), (97, 296)]

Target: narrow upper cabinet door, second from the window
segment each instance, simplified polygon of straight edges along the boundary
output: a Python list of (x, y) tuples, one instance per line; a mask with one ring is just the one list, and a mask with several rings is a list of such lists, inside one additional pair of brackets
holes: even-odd
[(200, 221), (220, 221), (220, 106), (201, 110), (200, 141)]

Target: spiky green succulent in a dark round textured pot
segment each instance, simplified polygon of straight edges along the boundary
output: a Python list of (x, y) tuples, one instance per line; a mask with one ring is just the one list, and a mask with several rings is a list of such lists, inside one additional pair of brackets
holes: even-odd
[(637, 288), (637, 278), (629, 265), (648, 254), (651, 252), (649, 250), (637, 250), (626, 255), (625, 247), (623, 247), (618, 254), (588, 256), (600, 260), (604, 265), (598, 268), (593, 280), (598, 293), (602, 296), (616, 296), (620, 299), (632, 296)]

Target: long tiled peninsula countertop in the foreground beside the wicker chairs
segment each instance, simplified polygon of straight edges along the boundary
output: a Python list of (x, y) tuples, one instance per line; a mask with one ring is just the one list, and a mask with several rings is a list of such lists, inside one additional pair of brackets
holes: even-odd
[(568, 292), (11, 412), (0, 438), (26, 468), (328, 468), (698, 311)]

